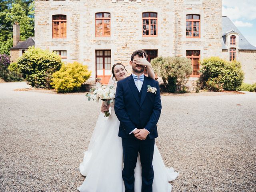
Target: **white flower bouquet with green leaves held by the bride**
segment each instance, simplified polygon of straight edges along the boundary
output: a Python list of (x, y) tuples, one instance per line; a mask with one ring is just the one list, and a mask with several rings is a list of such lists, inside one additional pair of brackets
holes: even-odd
[[(86, 93), (86, 97), (88, 97), (88, 101), (91, 100), (96, 100), (97, 102), (99, 100), (104, 101), (106, 104), (110, 104), (110, 102), (113, 102), (115, 99), (115, 95), (116, 95), (116, 89), (114, 88), (114, 86), (101, 86), (98, 89), (95, 90), (91, 90), (91, 93)], [(105, 117), (109, 117), (110, 113), (109, 111), (105, 111)]]

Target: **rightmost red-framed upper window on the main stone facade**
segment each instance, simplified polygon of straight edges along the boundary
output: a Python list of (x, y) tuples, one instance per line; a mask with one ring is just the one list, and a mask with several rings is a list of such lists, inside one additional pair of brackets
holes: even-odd
[(186, 37), (200, 38), (200, 15), (186, 15)]

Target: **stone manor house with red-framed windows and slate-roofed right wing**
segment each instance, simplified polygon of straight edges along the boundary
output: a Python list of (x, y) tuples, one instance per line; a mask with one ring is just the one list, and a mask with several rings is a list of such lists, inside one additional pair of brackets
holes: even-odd
[(36, 0), (35, 46), (66, 62), (88, 65), (94, 83), (108, 83), (111, 66), (127, 65), (134, 50), (191, 59), (188, 86), (199, 74), (199, 60), (219, 56), (239, 60), (246, 83), (256, 82), (256, 47), (228, 17), (222, 0)]

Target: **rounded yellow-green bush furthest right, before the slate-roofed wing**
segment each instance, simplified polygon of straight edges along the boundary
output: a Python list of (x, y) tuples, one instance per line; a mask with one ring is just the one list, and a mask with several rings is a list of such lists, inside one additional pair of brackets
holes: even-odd
[(219, 57), (206, 58), (199, 70), (199, 86), (209, 90), (236, 90), (244, 80), (240, 62), (226, 61)]

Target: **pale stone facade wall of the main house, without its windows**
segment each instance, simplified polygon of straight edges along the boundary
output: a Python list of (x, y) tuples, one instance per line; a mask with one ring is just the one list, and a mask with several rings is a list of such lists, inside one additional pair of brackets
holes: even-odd
[[(67, 61), (89, 66), (96, 76), (95, 50), (111, 50), (111, 63), (128, 66), (134, 50), (158, 50), (158, 56), (186, 56), (200, 50), (201, 58), (221, 55), (221, 0), (37, 0), (35, 46), (67, 50)], [(111, 36), (95, 36), (95, 13), (111, 14)], [(158, 35), (142, 36), (142, 13), (158, 13)], [(52, 38), (52, 15), (67, 16), (67, 38)], [(186, 14), (200, 14), (201, 37), (186, 38)], [(130, 66), (127, 67), (131, 72)]]

